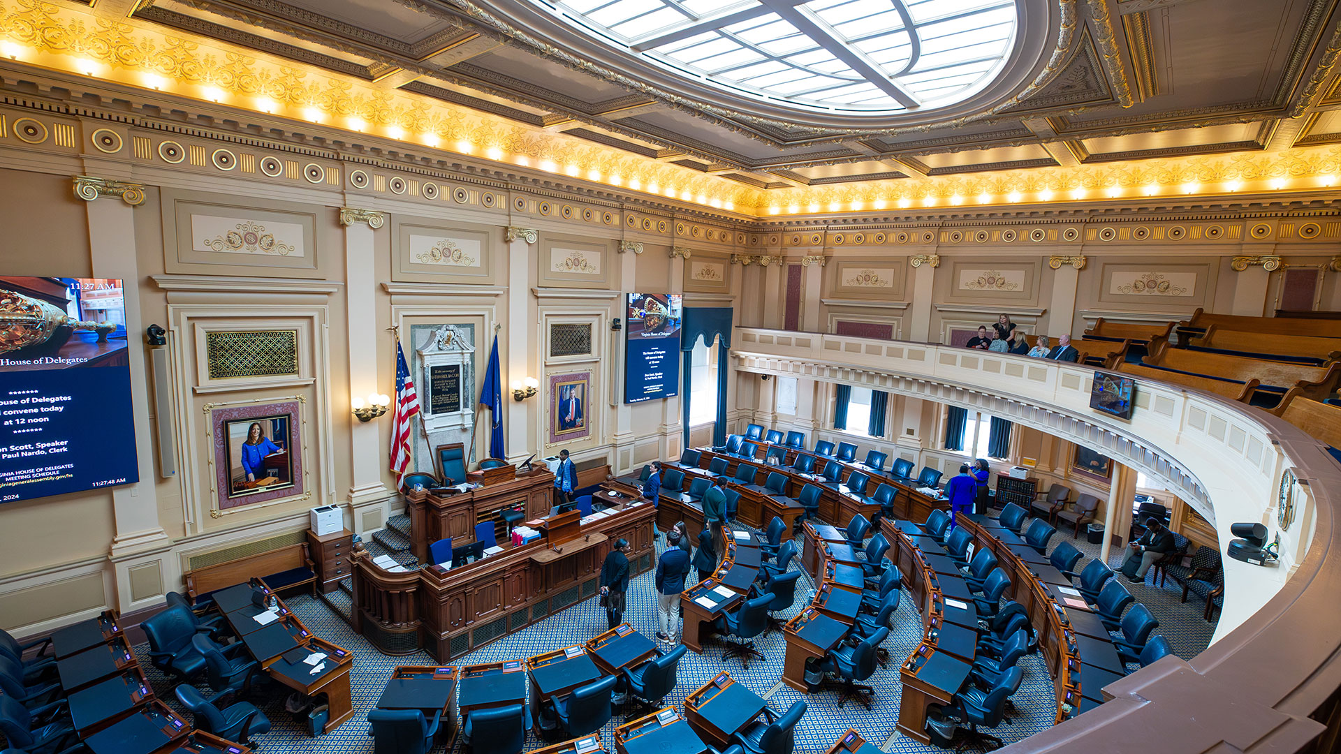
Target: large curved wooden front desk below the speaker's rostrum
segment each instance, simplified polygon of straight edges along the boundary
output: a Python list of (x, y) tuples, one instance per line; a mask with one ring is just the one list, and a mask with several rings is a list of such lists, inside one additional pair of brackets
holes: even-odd
[[(548, 495), (548, 488), (544, 491)], [(603, 503), (602, 498), (607, 496), (595, 499)], [(439, 663), (520, 631), (594, 596), (601, 563), (617, 539), (628, 539), (633, 547), (633, 576), (653, 566), (656, 510), (645, 500), (618, 500), (607, 514), (574, 519), (577, 523), (557, 533), (571, 534), (571, 539), (554, 542), (543, 534), (520, 546), (500, 542), (500, 553), (452, 569), (430, 565), (393, 573), (373, 563), (367, 551), (355, 551), (350, 624), (382, 653), (426, 649)], [(546, 498), (544, 513), (548, 510)], [(544, 527), (536, 519), (527, 525)]]

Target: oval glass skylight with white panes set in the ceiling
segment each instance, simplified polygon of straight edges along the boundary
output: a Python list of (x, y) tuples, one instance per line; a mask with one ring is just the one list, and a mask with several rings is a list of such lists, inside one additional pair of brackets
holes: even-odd
[(991, 83), (1016, 0), (528, 0), (693, 80), (813, 111), (953, 105)]

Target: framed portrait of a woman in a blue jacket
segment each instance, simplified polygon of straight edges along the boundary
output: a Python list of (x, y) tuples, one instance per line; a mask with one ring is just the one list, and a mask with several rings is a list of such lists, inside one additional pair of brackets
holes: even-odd
[(215, 511), (306, 498), (302, 398), (211, 404)]

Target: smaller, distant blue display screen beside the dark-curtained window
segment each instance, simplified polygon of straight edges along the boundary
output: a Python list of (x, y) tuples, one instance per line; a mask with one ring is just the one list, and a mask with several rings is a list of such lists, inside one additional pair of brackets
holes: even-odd
[(624, 402), (680, 394), (680, 294), (629, 294)]

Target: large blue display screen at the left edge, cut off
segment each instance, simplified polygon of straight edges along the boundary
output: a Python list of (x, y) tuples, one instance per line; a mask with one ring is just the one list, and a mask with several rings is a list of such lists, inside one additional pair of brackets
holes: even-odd
[(138, 479), (121, 280), (0, 278), (0, 502)]

